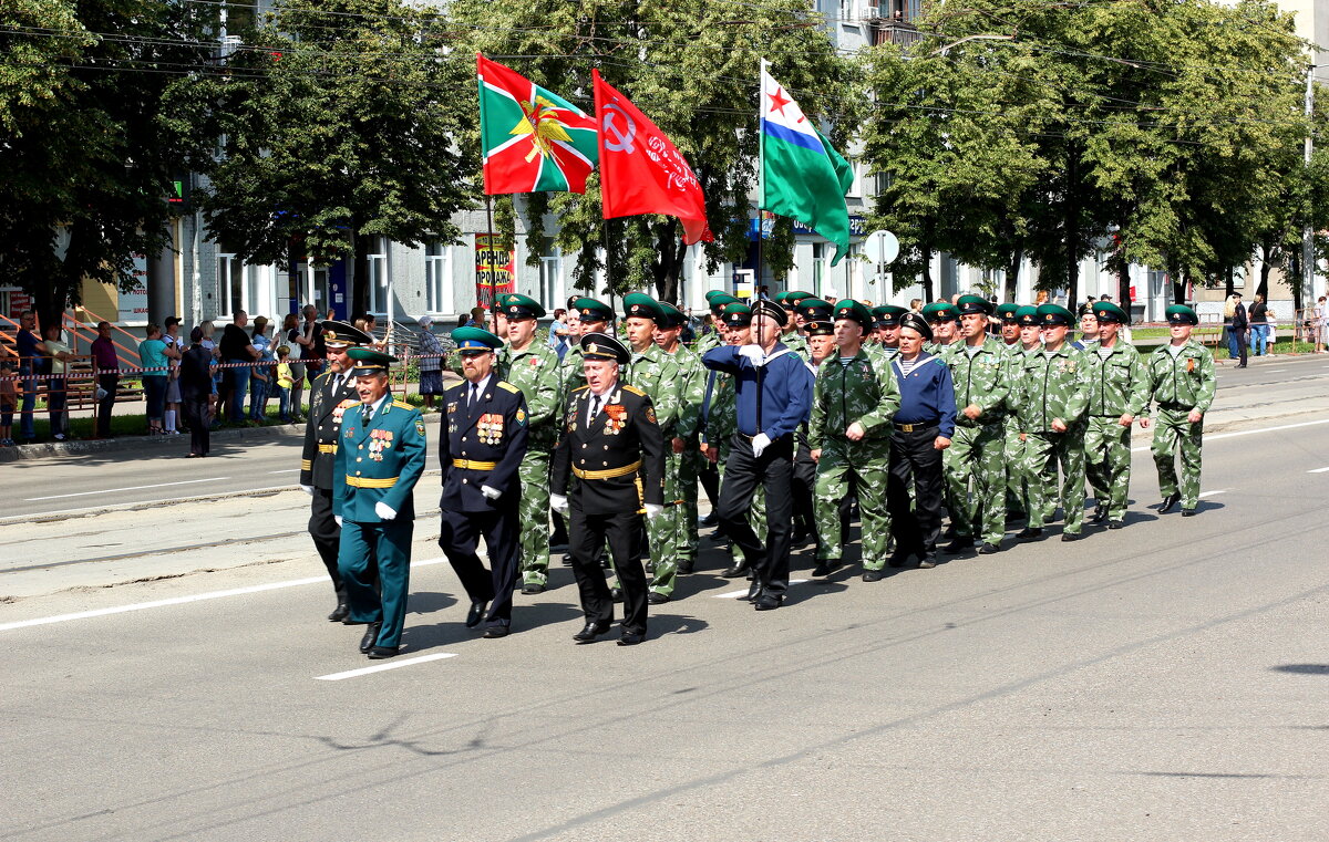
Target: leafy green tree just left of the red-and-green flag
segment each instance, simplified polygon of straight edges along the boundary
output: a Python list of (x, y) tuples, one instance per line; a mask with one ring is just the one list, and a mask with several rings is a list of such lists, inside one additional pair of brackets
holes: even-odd
[[(199, 162), (214, 236), (246, 260), (290, 266), (354, 256), (367, 276), (376, 236), (415, 246), (457, 239), (474, 205), (473, 64), (448, 49), (437, 12), (399, 0), (288, 0), (243, 32), (225, 68), (181, 84), (206, 101), (201, 127), (222, 138)], [(470, 82), (473, 89), (473, 82)], [(354, 284), (354, 309), (368, 287)]]

